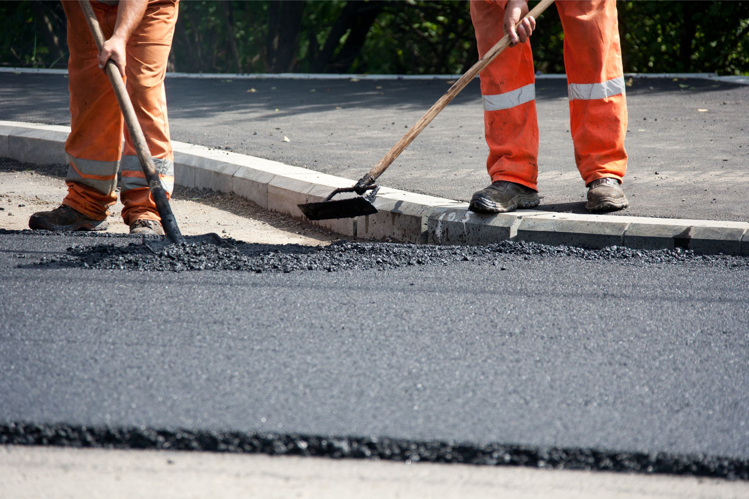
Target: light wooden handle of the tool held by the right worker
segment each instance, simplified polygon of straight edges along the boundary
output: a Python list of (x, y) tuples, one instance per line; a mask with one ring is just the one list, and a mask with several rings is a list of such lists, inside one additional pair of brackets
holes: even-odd
[[(554, 0), (539, 1), (539, 4), (537, 4), (536, 7), (533, 7), (533, 10), (527, 13), (527, 15), (523, 19), (528, 16), (533, 16), (534, 18), (540, 16), (541, 13), (553, 3)], [(518, 22), (518, 26), (523, 21), (523, 19)], [(422, 130), (425, 129), (429, 123), (431, 123), (431, 120), (434, 120), (434, 117), (436, 117), (437, 114), (440, 114), (440, 111), (442, 111), (443, 108), (445, 108), (445, 106), (448, 105), (449, 102), (453, 100), (455, 96), (458, 95), (460, 91), (463, 90), (463, 88), (465, 88), (466, 85), (468, 85), (468, 82), (476, 78), (476, 75), (479, 74), (479, 72), (483, 70), (491, 61), (494, 61), (494, 58), (497, 57), (497, 55), (500, 55), (500, 52), (506, 49), (509, 45), (510, 38), (509, 35), (506, 34), (500, 41), (497, 42), (496, 45), (491, 47), (491, 49), (489, 49), (489, 51), (484, 54), (484, 57), (480, 58), (479, 61), (476, 62), (476, 64), (473, 64), (470, 70), (467, 70), (467, 72), (463, 76), (461, 76), (461, 78), (458, 79), (458, 81), (455, 82), (455, 84), (452, 85), (452, 87), (450, 87), (442, 97), (440, 97), (440, 100), (434, 102), (434, 105), (431, 106), (429, 111), (426, 111), (424, 116), (422, 116), (415, 125), (411, 126), (410, 130), (406, 132), (406, 135), (403, 135), (401, 140), (399, 140), (397, 144), (392, 146), (392, 149), (389, 150), (385, 156), (383, 156), (383, 159), (380, 159), (380, 162), (378, 162), (377, 165), (375, 165), (372, 170), (370, 170), (369, 173), (366, 174), (364, 179), (362, 179), (364, 180), (364, 183), (373, 183), (377, 177), (380, 177), (382, 172), (385, 171), (387, 167), (389, 167), (390, 164), (395, 161), (395, 158), (401, 155), (408, 144), (410, 144), (413, 139), (416, 138), (416, 135), (419, 135), (419, 133), (421, 133)]]

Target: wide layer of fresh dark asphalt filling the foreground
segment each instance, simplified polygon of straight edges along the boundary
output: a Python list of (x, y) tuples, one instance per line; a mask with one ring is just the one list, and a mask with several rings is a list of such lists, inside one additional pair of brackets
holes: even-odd
[(340, 242), (235, 247), (250, 272), (107, 268), (139, 244), (0, 233), (3, 441), (301, 453), (307, 435), (327, 455), (333, 435), (352, 456), (389, 439), (418, 459), (745, 477), (741, 257)]

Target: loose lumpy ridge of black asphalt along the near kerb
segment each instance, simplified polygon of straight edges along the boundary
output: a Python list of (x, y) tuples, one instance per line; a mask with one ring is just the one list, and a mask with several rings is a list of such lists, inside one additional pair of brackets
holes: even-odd
[[(1, 231), (0, 233), (10, 233)], [(31, 231), (14, 231), (16, 233)], [(34, 235), (42, 235), (36, 231)], [(53, 235), (55, 233), (48, 233)], [(59, 234), (59, 233), (57, 233)], [(233, 270), (242, 272), (294, 272), (397, 269), (407, 266), (448, 266), (476, 262), (500, 266), (502, 263), (536, 258), (574, 257), (591, 261), (648, 265), (697, 263), (728, 268), (747, 268), (749, 258), (733, 255), (700, 255), (694, 251), (636, 250), (620, 246), (602, 249), (574, 246), (549, 246), (536, 242), (503, 241), (485, 246), (431, 246), (383, 242), (333, 242), (327, 246), (264, 245), (224, 239), (225, 246), (206, 243), (169, 245), (154, 252), (143, 244), (142, 237), (127, 234), (81, 234), (88, 242), (97, 236), (109, 239), (103, 244), (74, 244), (67, 253), (43, 257), (32, 266), (73, 267), (85, 269), (136, 270), (142, 272), (184, 272)], [(19, 254), (25, 258), (26, 255)]]

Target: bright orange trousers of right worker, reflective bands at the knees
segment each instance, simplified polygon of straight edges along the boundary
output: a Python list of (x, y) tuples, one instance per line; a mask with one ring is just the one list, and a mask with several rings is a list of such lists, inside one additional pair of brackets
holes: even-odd
[[(470, 2), (479, 56), (503, 37), (506, 3)], [(557, 1), (555, 5), (564, 29), (577, 168), (586, 185), (601, 177), (621, 182), (627, 170), (627, 102), (616, 2)], [(538, 190), (539, 125), (530, 40), (504, 50), (480, 76), (491, 181), (507, 180)]]

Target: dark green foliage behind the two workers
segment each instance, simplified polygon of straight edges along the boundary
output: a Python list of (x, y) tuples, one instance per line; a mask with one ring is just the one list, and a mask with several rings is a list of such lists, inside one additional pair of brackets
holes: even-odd
[[(617, 7), (626, 72), (749, 74), (749, 1)], [(65, 31), (56, 1), (0, 2), (0, 64), (65, 67)], [(532, 43), (537, 70), (564, 73), (554, 7)], [(476, 58), (467, 0), (192, 0), (180, 4), (170, 70), (457, 74)]]

